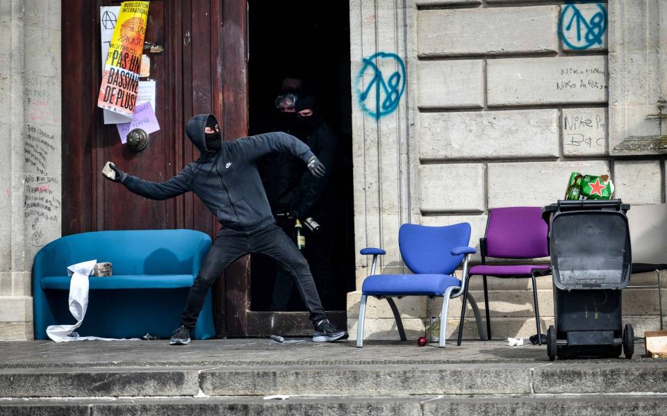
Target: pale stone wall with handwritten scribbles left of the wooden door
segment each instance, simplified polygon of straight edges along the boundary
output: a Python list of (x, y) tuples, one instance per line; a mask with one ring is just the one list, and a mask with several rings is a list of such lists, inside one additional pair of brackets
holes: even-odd
[(33, 338), (33, 258), (60, 237), (60, 76), (60, 1), (1, 1), (0, 340)]

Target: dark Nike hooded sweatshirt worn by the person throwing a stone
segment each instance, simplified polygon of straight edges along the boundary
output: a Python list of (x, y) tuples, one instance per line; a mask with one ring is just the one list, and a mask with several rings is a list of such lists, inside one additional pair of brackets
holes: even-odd
[(211, 114), (198, 114), (186, 133), (200, 156), (166, 182), (144, 181), (127, 175), (122, 183), (149, 199), (169, 199), (195, 192), (222, 224), (221, 234), (252, 233), (275, 222), (257, 171), (256, 160), (268, 153), (291, 153), (306, 163), (313, 152), (287, 133), (265, 133), (222, 142), (217, 151), (206, 149), (204, 128)]

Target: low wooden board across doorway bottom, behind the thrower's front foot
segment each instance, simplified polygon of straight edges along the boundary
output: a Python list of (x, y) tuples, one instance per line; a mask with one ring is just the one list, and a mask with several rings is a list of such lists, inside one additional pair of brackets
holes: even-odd
[[(338, 328), (347, 328), (345, 310), (329, 310), (327, 318)], [(309, 337), (313, 335), (313, 324), (307, 312), (256, 312), (248, 313), (248, 336)]]

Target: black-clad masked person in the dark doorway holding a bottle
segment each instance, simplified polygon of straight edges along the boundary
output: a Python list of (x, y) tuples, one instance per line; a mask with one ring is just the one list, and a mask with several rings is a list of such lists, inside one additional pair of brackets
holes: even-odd
[[(338, 137), (327, 126), (318, 110), (313, 97), (299, 99), (295, 106), (297, 119), (295, 133), (306, 142), (308, 148), (322, 162), (326, 169), (324, 178), (314, 178), (302, 170), (299, 171), (300, 180), (290, 189), (284, 201), (289, 205), (288, 213), (291, 218), (314, 219), (319, 224), (317, 230), (311, 230), (306, 235), (305, 255), (313, 271), (318, 292), (324, 297), (324, 307), (337, 307), (334, 276), (334, 228), (336, 224), (336, 195), (335, 187), (331, 185), (331, 174), (334, 172), (334, 160), (338, 151)], [(279, 175), (290, 175), (290, 172), (280, 172)], [(292, 226), (294, 225), (292, 219)], [(283, 230), (290, 232), (283, 227)], [(293, 290), (292, 279), (284, 272), (276, 276), (270, 310), (286, 310)]]

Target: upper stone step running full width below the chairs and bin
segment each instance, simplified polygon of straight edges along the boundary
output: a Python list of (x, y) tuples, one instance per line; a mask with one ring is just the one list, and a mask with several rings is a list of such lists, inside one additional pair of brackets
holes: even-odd
[[(354, 351), (354, 350), (352, 350)], [(540, 354), (540, 351), (536, 350)], [(639, 355), (639, 353), (638, 353)], [(270, 394), (665, 394), (667, 361), (338, 360), (169, 367), (4, 366), (0, 403), (49, 397), (210, 397)], [(129, 364), (128, 364), (129, 365)], [(12, 400), (10, 400), (12, 401)]]

